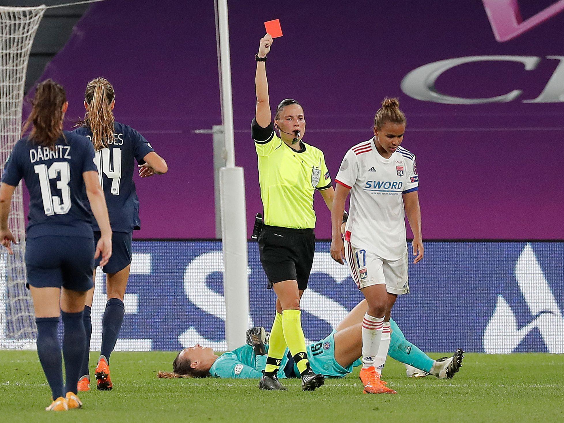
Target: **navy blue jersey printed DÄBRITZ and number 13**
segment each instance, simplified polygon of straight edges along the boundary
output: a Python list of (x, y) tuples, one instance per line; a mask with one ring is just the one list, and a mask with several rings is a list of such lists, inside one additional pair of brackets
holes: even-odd
[(82, 173), (97, 171), (94, 147), (84, 136), (63, 131), (55, 149), (20, 139), (4, 166), (2, 182), (29, 191), (27, 237), (46, 235), (92, 238), (90, 204)]

